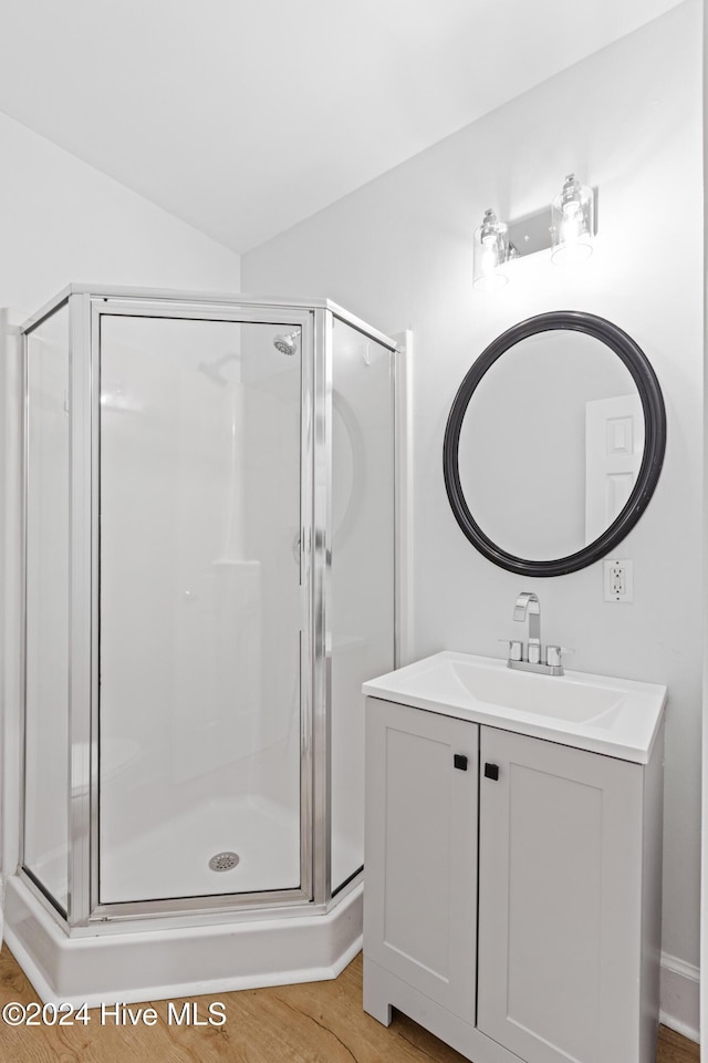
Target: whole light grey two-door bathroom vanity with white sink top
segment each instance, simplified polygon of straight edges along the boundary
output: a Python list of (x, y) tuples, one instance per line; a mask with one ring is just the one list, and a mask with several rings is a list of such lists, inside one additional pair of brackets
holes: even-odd
[(365, 1010), (475, 1063), (653, 1063), (666, 688), (448, 652), (364, 693)]

